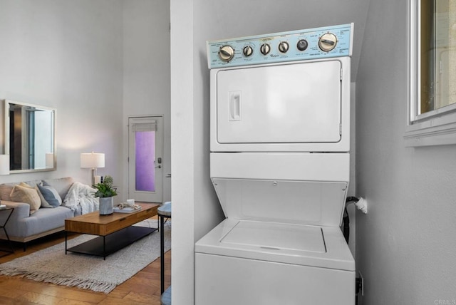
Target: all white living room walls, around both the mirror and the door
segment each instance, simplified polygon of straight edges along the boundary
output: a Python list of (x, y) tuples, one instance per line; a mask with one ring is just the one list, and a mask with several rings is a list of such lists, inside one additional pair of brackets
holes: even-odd
[[(169, 24), (169, 0), (0, 0), (0, 99), (57, 109), (57, 170), (0, 182), (90, 183), (79, 155), (95, 151), (106, 159), (98, 174), (112, 175), (117, 200), (125, 200), (129, 115), (163, 115), (163, 174), (170, 173)], [(170, 199), (164, 178), (163, 201)]]

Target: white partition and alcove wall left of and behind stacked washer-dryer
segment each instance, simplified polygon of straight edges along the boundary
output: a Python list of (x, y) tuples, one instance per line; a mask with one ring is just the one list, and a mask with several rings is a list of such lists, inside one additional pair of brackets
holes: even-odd
[(363, 0), (171, 1), (173, 304), (192, 304), (194, 244), (223, 218), (209, 180), (205, 41), (354, 21), (353, 78), (367, 9)]

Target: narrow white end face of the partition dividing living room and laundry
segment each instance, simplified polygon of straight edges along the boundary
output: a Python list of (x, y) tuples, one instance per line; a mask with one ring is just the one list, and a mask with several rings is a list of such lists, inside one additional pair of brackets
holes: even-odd
[[(195, 244), (195, 138), (193, 98), (193, 0), (172, 0), (171, 147), (172, 147), (172, 303), (193, 303)], [(206, 221), (204, 219), (204, 221)]]

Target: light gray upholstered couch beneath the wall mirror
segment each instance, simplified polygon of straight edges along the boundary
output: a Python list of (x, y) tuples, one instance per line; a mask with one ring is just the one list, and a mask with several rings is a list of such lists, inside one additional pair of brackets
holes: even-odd
[[(73, 178), (65, 177), (59, 179), (33, 180), (26, 181), (27, 185), (34, 187), (42, 182), (44, 185), (50, 185), (63, 200), (68, 190), (73, 185)], [(0, 200), (2, 205), (14, 207), (14, 212), (6, 224), (6, 232), (9, 239), (15, 242), (29, 242), (33, 239), (46, 236), (55, 232), (62, 231), (65, 227), (65, 219), (81, 214), (78, 210), (71, 210), (68, 207), (40, 207), (36, 212), (31, 214), (31, 205), (24, 202), (11, 201), (11, 190), (18, 183), (4, 183), (0, 185)], [(0, 224), (3, 224), (8, 216), (8, 212), (0, 211)], [(6, 239), (4, 230), (0, 229), (0, 239)]]

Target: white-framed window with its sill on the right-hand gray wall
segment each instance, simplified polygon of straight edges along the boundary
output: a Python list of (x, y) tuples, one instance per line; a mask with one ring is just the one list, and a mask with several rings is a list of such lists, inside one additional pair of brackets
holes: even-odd
[(456, 144), (456, 1), (410, 0), (407, 146)]

